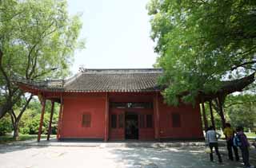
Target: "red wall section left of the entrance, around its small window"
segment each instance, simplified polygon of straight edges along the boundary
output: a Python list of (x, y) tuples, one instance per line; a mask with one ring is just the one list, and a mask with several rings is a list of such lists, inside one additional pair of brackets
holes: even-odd
[[(106, 97), (64, 96), (61, 138), (104, 139)], [(82, 114), (90, 113), (90, 127), (82, 127)]]

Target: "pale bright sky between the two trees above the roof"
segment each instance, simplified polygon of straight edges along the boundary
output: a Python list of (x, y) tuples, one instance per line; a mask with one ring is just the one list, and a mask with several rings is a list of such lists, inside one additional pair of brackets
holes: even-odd
[(73, 73), (85, 68), (152, 68), (157, 54), (150, 39), (149, 0), (68, 0), (82, 13), (86, 49), (74, 54)]

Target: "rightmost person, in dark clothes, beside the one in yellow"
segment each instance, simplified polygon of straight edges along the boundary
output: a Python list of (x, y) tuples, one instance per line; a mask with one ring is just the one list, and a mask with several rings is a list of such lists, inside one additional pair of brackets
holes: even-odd
[(250, 162), (249, 162), (250, 143), (248, 142), (246, 135), (243, 133), (243, 127), (237, 127), (236, 131), (237, 131), (238, 139), (241, 142), (240, 150), (242, 152), (242, 161), (244, 162), (246, 168), (254, 168), (254, 166), (250, 166)]

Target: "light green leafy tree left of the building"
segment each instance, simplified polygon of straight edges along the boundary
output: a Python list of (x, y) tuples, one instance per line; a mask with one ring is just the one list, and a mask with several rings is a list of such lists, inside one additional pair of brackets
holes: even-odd
[(70, 17), (65, 0), (0, 1), (0, 119), (9, 112), (14, 138), (18, 123), (32, 99), (12, 79), (43, 80), (69, 74), (82, 27), (79, 16)]

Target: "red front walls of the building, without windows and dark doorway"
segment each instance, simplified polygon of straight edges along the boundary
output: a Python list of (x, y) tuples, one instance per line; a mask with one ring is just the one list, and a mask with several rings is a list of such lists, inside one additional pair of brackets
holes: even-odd
[[(155, 93), (111, 93), (112, 102), (153, 102)], [(199, 106), (182, 104), (179, 107), (167, 106), (162, 97), (158, 101), (160, 139), (201, 139), (202, 121)], [(116, 109), (109, 108), (110, 115), (134, 111), (138, 114), (154, 114), (154, 109)], [(61, 138), (104, 139), (106, 94), (64, 96)], [(82, 127), (82, 114), (90, 113), (91, 127)], [(172, 127), (172, 113), (181, 116), (181, 127)], [(110, 116), (109, 115), (109, 116)], [(155, 119), (155, 117), (154, 117)], [(111, 121), (110, 121), (111, 122)], [(153, 121), (154, 122), (154, 121)], [(110, 125), (110, 124), (109, 124)], [(110, 139), (124, 139), (124, 129), (111, 130)], [(154, 139), (154, 128), (140, 129), (139, 139)]]

